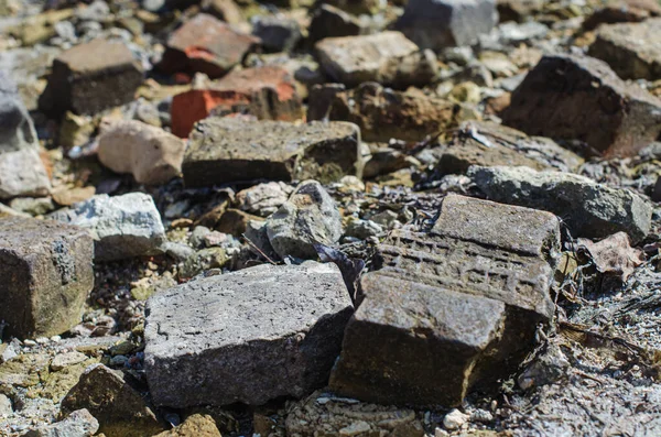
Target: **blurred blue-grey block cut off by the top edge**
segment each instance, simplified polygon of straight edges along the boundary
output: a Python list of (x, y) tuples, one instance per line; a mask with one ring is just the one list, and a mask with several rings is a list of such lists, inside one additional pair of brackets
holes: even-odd
[(474, 45), (498, 22), (495, 0), (410, 0), (397, 29), (422, 48)]

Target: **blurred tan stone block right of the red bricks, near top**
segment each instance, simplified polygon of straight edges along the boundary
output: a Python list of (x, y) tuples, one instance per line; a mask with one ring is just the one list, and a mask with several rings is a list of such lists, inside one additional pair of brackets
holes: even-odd
[(315, 48), (326, 74), (349, 87), (364, 81), (398, 88), (423, 86), (438, 69), (433, 52), (420, 51), (400, 32), (328, 37)]

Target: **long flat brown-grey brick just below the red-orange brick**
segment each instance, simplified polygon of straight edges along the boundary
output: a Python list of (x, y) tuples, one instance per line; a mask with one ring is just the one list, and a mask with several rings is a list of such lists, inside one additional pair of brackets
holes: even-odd
[(351, 123), (249, 121), (208, 118), (191, 133), (184, 157), (189, 187), (238, 181), (324, 182), (361, 176), (360, 130)]

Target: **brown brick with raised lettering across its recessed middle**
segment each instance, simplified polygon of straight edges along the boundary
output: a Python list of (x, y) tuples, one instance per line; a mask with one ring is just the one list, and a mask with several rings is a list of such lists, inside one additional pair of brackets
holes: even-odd
[(448, 195), (429, 233), (393, 231), (347, 325), (335, 392), (380, 404), (458, 405), (516, 370), (553, 315), (548, 212)]

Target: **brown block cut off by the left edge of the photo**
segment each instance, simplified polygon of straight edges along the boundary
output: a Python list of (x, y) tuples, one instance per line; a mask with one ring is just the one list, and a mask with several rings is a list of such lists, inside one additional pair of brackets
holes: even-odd
[(84, 229), (32, 218), (0, 219), (0, 320), (25, 338), (80, 323), (94, 285), (94, 243)]

